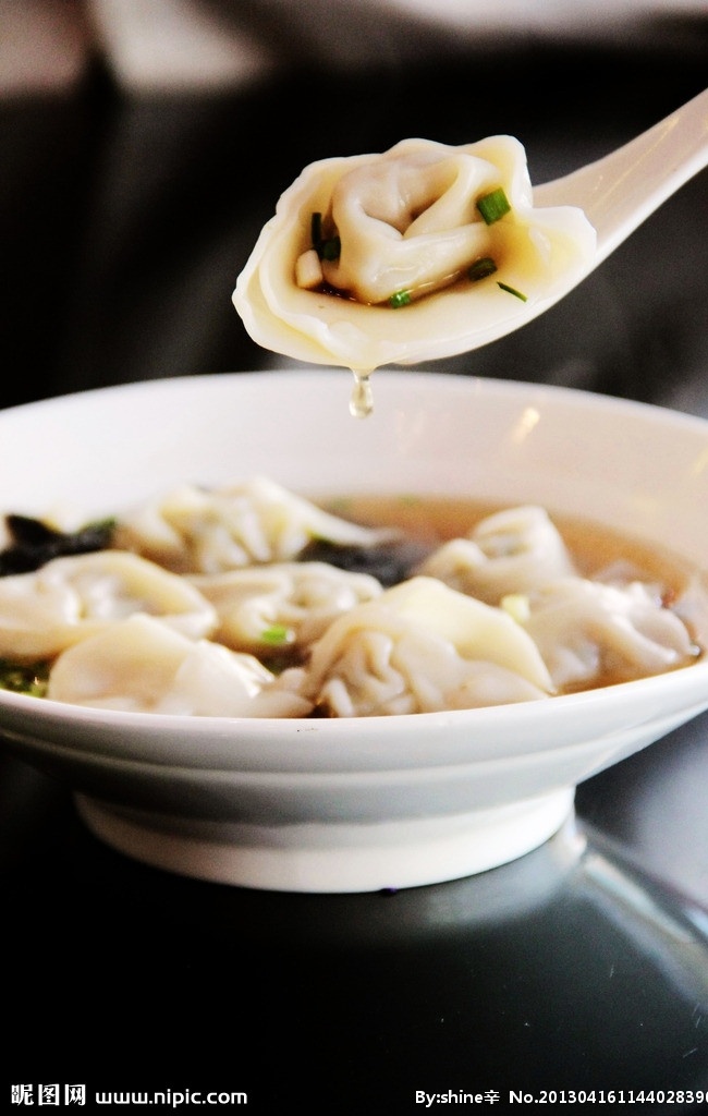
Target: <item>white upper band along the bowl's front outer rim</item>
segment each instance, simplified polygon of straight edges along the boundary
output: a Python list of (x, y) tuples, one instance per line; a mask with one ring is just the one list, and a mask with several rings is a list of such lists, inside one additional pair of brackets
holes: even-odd
[[(526, 754), (534, 735), (534, 754), (557, 753), (588, 740), (589, 719), (593, 720), (592, 735), (604, 734), (609, 740), (618, 730), (641, 729), (658, 716), (675, 715), (678, 725), (683, 711), (692, 710), (694, 716), (707, 708), (708, 656), (663, 674), (580, 693), (396, 716), (183, 716), (71, 705), (8, 691), (0, 692), (0, 735), (64, 750), (69, 730), (68, 747), (77, 757), (159, 768), (361, 772), (362, 762), (365, 769), (380, 771), (508, 760)], [(618, 719), (620, 709), (624, 715)], [(8, 724), (7, 714), (14, 723)], [(553, 740), (540, 743), (550, 720)], [(570, 744), (565, 729), (572, 729), (571, 738), (576, 737)], [(448, 737), (444, 744), (442, 732)], [(500, 733), (513, 741), (511, 748), (498, 742)], [(283, 747), (289, 750), (284, 766)]]

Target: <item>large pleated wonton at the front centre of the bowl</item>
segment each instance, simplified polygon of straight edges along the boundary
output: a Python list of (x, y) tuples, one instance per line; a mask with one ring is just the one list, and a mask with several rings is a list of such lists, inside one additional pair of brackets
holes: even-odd
[(331, 716), (474, 709), (553, 690), (533, 641), (510, 616), (427, 577), (336, 619), (304, 675), (303, 692)]

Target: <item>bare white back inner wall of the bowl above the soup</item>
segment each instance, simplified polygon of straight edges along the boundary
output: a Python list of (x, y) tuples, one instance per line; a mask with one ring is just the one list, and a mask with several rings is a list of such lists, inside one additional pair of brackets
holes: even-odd
[[(708, 423), (547, 385), (340, 369), (153, 381), (0, 414), (0, 507), (107, 514), (185, 480), (543, 502), (705, 561)], [(21, 468), (19, 466), (21, 463)]]

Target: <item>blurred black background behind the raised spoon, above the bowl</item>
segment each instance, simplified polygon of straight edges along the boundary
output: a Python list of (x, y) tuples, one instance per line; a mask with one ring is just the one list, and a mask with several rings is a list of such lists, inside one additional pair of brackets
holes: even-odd
[[(71, 94), (0, 104), (0, 403), (272, 366), (231, 292), (307, 163), (506, 132), (541, 183), (700, 93), (707, 38), (696, 21), (666, 52), (522, 44), (353, 73), (293, 66), (233, 94), (125, 94), (97, 62)], [(704, 172), (521, 333), (436, 367), (707, 413), (706, 187)]]

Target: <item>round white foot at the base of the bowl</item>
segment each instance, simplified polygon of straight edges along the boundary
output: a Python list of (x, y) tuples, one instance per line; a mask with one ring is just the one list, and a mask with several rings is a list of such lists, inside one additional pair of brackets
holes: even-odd
[(561, 828), (573, 797), (562, 789), (443, 818), (274, 827), (168, 818), (84, 795), (76, 802), (96, 837), (153, 867), (264, 891), (342, 893), (443, 883), (507, 864)]

